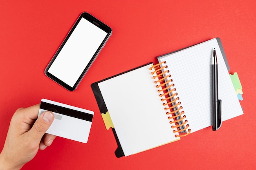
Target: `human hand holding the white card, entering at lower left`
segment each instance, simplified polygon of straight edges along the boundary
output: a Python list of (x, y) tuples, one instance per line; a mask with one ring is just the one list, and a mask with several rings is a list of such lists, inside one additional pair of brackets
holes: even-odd
[(38, 117), (39, 108), (40, 104), (37, 104), (19, 108), (14, 113), (0, 154), (0, 170), (19, 170), (36, 156), (38, 149), (44, 150), (52, 144), (56, 136), (45, 132), (51, 126), (54, 114), (46, 111)]

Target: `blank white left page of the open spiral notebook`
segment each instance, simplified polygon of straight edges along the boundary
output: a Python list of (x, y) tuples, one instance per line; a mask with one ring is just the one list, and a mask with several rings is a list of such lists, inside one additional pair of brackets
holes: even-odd
[(125, 156), (180, 139), (169, 123), (151, 66), (98, 84)]

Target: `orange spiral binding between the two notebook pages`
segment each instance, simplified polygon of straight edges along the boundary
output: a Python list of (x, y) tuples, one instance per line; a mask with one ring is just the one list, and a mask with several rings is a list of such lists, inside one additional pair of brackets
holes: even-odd
[(181, 111), (181, 102), (177, 102), (180, 98), (175, 98), (177, 93), (174, 93), (174, 91), (176, 91), (176, 89), (173, 88), (175, 85), (171, 84), (173, 80), (167, 79), (167, 77), (171, 77), (171, 75), (166, 75), (166, 73), (169, 73), (169, 70), (164, 71), (164, 68), (168, 67), (162, 66), (162, 64), (164, 63), (166, 62), (160, 62), (150, 67), (149, 69), (152, 71), (154, 68), (155, 70), (151, 72), (151, 75), (155, 73), (157, 74), (156, 76), (153, 76), (153, 79), (157, 78), (157, 80), (155, 80), (155, 84), (157, 84), (158, 82), (160, 83), (160, 85), (157, 85), (156, 88), (161, 87), (161, 89), (158, 90), (158, 93), (163, 92), (163, 94), (160, 94), (159, 96), (164, 96), (164, 98), (161, 99), (162, 102), (166, 101), (166, 103), (163, 103), (163, 106), (167, 106), (166, 108), (164, 108), (164, 110), (169, 110), (169, 112), (166, 113), (166, 115), (170, 115), (168, 119), (174, 120), (170, 121), (170, 124), (175, 124), (175, 126), (171, 126), (171, 128), (177, 128), (177, 130), (173, 130), (173, 132), (179, 133), (179, 135), (175, 135), (175, 137), (184, 137), (190, 134), (191, 129), (189, 129), (189, 124), (187, 124), (188, 121), (185, 120), (186, 116), (183, 115), (184, 111)]

